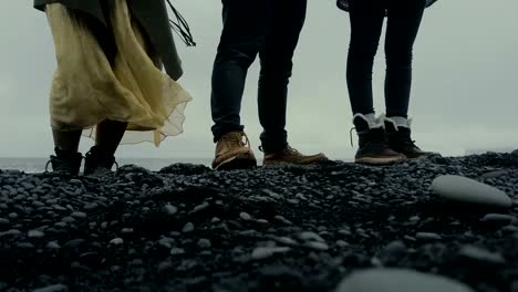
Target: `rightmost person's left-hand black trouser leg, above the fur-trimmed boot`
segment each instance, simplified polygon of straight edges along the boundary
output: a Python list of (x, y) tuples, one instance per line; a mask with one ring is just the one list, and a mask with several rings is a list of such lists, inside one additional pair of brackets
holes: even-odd
[(385, 17), (382, 0), (351, 0), (351, 42), (348, 55), (348, 88), (353, 114), (374, 113), (372, 67)]

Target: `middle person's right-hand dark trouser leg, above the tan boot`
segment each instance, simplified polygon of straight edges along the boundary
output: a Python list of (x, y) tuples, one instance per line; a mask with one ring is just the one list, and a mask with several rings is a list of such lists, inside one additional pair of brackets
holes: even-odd
[(307, 0), (269, 1), (268, 33), (259, 52), (258, 108), (265, 152), (288, 145), (286, 111), (293, 52), (305, 20)]

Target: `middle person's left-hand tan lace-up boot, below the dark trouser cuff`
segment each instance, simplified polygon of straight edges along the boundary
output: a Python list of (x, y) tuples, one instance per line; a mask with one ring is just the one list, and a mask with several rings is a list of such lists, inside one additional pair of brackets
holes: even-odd
[(213, 168), (216, 170), (250, 169), (257, 167), (256, 156), (245, 132), (236, 131), (221, 136), (216, 144)]

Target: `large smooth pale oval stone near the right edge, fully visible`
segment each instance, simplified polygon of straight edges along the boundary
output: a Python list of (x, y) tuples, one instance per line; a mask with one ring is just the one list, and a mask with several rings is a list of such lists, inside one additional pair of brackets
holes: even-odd
[(439, 176), (432, 181), (437, 196), (453, 201), (509, 208), (511, 199), (501, 190), (462, 176)]

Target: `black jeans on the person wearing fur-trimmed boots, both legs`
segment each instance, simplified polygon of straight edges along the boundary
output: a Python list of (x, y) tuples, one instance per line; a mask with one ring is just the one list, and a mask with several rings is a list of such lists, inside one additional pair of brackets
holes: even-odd
[(387, 116), (407, 117), (412, 85), (412, 50), (425, 0), (351, 0), (348, 88), (353, 114), (374, 113), (372, 69), (387, 12), (385, 106)]

